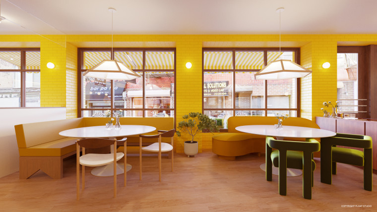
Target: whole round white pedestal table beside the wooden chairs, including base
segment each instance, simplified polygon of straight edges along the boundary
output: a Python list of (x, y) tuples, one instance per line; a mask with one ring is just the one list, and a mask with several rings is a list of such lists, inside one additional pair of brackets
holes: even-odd
[[(109, 138), (115, 139), (116, 137), (126, 137), (131, 135), (139, 135), (149, 133), (156, 130), (156, 127), (144, 125), (122, 125), (122, 129), (107, 130), (105, 125), (93, 127), (80, 127), (69, 130), (64, 130), (59, 133), (61, 136), (73, 138)], [(113, 147), (110, 148), (113, 153)], [(123, 163), (117, 163), (117, 174), (125, 172)], [(126, 171), (131, 169), (131, 165), (127, 163)], [(114, 168), (112, 164), (98, 166), (92, 169), (91, 173), (95, 176), (113, 176)]]

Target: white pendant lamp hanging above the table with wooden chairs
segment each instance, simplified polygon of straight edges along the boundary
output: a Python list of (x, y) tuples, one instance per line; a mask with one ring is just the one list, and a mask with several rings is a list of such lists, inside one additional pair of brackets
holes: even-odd
[[(113, 13), (117, 10), (109, 8), (111, 12), (111, 57), (113, 57)], [(102, 62), (84, 72), (83, 76), (107, 80), (133, 80), (140, 77), (118, 60), (104, 59)]]

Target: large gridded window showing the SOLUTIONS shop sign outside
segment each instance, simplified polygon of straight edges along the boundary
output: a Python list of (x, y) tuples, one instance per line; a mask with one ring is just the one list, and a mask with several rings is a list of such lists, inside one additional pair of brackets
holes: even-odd
[(256, 80), (254, 74), (278, 59), (299, 61), (299, 49), (203, 48), (203, 112), (227, 128), (230, 116), (299, 116), (299, 79)]

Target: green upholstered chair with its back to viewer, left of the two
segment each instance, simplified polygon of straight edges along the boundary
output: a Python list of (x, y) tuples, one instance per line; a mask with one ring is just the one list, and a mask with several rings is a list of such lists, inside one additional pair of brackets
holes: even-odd
[[(272, 150), (272, 148), (276, 150)], [(266, 180), (272, 181), (272, 164), (279, 167), (279, 194), (287, 195), (287, 168), (303, 169), (303, 197), (312, 199), (313, 153), (320, 149), (315, 139), (279, 141), (266, 137)]]

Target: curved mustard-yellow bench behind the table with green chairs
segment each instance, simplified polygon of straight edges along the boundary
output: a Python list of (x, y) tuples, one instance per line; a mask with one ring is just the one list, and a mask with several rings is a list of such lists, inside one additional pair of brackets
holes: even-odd
[[(219, 158), (234, 160), (236, 156), (243, 156), (250, 153), (265, 152), (265, 136), (243, 133), (236, 130), (236, 127), (243, 125), (273, 125), (277, 124), (276, 117), (265, 116), (232, 116), (228, 119), (228, 132), (212, 137), (212, 152)], [(301, 126), (318, 128), (318, 125), (309, 119), (289, 117), (282, 122), (283, 127)], [(300, 139), (286, 138), (297, 141)], [(302, 139), (305, 141), (305, 139)]]

